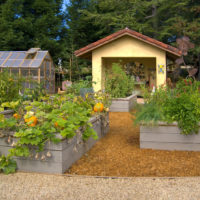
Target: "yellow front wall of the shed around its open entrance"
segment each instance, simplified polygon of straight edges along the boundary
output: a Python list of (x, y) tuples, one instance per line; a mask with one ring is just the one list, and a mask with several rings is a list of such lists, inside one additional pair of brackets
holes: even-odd
[[(130, 36), (123, 36), (113, 42), (110, 42), (102, 47), (95, 49), (92, 52), (92, 76), (94, 90), (103, 89), (103, 77), (105, 73), (105, 58), (144, 58), (144, 65), (152, 65), (152, 62), (147, 62), (145, 58), (156, 58), (156, 84), (157, 86), (166, 81), (166, 52), (149, 45)], [(158, 73), (158, 64), (163, 64), (164, 74)], [(152, 66), (151, 66), (152, 67)]]

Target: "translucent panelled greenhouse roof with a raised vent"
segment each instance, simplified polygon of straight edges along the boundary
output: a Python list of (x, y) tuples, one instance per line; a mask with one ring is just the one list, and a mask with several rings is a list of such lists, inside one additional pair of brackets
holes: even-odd
[(28, 51), (0, 51), (0, 67), (38, 68), (48, 51), (31, 48)]

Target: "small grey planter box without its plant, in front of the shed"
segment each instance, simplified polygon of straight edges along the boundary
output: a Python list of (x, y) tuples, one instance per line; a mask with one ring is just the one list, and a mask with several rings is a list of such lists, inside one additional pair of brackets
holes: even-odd
[(111, 112), (130, 112), (135, 102), (137, 101), (137, 92), (134, 92), (131, 96), (126, 98), (112, 99), (112, 104), (110, 106)]

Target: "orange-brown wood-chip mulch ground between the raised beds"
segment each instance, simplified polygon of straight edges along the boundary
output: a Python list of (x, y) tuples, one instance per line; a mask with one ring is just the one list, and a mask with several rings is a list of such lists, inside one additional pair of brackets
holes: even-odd
[(120, 177), (200, 176), (200, 152), (140, 149), (130, 113), (110, 113), (110, 131), (66, 174)]

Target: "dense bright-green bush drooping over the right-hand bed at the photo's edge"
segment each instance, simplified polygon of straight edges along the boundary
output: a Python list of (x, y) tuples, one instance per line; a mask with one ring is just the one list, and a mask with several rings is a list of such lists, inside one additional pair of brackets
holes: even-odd
[(180, 81), (169, 98), (165, 99), (163, 113), (167, 122), (177, 121), (183, 134), (198, 133), (200, 121), (199, 82)]

